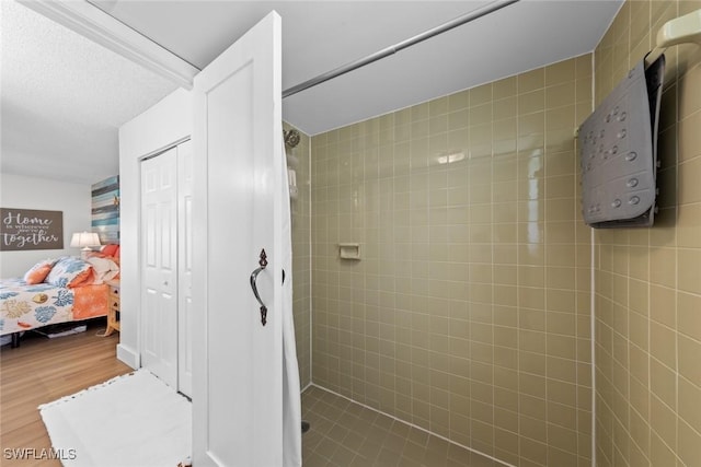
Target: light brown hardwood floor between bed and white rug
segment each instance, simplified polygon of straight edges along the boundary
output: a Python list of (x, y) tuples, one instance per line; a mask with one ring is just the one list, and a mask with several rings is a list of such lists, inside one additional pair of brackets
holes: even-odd
[[(85, 332), (55, 339), (27, 332), (19, 348), (1, 348), (0, 465), (61, 465), (41, 458), (51, 442), (37, 406), (131, 371), (116, 359), (119, 335), (96, 336), (104, 329), (96, 320)], [(13, 458), (22, 454), (30, 458)]]

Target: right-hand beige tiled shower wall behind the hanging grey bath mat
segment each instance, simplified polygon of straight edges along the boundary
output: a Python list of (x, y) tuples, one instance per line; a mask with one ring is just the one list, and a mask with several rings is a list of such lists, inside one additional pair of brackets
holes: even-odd
[[(596, 49), (596, 103), (701, 1), (629, 1)], [(597, 465), (701, 465), (701, 47), (666, 51), (653, 229), (596, 233)]]

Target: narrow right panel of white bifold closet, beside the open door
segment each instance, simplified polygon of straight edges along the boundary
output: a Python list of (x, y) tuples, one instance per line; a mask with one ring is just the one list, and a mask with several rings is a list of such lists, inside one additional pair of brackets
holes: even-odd
[(193, 142), (177, 147), (177, 390), (192, 397), (193, 347)]

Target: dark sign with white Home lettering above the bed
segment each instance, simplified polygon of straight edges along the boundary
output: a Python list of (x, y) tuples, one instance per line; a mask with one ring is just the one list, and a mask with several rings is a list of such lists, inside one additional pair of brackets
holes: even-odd
[(64, 211), (0, 208), (0, 252), (64, 249)]

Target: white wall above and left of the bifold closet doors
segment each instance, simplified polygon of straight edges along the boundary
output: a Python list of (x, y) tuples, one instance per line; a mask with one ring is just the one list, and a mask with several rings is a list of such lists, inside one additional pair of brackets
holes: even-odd
[(177, 90), (119, 128), (120, 331), (117, 358), (131, 367), (140, 359), (140, 160), (189, 138), (191, 93)]

